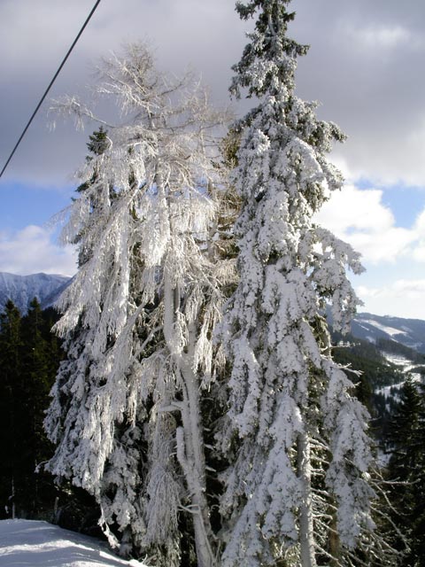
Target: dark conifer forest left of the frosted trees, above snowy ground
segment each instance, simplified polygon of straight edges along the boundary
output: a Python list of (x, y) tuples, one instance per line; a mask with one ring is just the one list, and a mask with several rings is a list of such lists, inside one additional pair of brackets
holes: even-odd
[(97, 528), (96, 502), (39, 467), (53, 446), (43, 420), (64, 353), (50, 331), (58, 313), (33, 299), (26, 315), (12, 301), (0, 314), (0, 519), (44, 519), (89, 534)]

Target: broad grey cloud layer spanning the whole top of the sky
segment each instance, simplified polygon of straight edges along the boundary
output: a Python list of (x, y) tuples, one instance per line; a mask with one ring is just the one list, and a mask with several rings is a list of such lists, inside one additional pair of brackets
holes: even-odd
[[(19, 136), (58, 61), (94, 4), (93, 0), (3, 0), (0, 4), (0, 159)], [(354, 173), (425, 186), (421, 166), (425, 142), (425, 77), (421, 73), (423, 0), (294, 0), (290, 33), (311, 44), (299, 63), (298, 92), (318, 99), (320, 114), (349, 136), (344, 149)], [(35, 21), (38, 22), (35, 24)], [(240, 57), (247, 22), (231, 0), (103, 0), (52, 90), (84, 93), (97, 58), (137, 39), (156, 46), (158, 65), (179, 74), (191, 64), (212, 87), (213, 99), (228, 101), (230, 66)], [(402, 28), (390, 47), (365, 44), (365, 35)], [(370, 36), (370, 35), (369, 35)], [(396, 38), (397, 39), (397, 38)], [(35, 121), (8, 176), (39, 183), (65, 183), (85, 153), (86, 135), (72, 124), (50, 134), (44, 113)], [(417, 142), (415, 142), (415, 140)]]

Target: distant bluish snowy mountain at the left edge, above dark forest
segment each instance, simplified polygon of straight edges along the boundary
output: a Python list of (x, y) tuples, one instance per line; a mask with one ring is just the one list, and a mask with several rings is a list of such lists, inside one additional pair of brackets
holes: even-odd
[(8, 299), (12, 299), (22, 314), (27, 313), (29, 303), (34, 298), (40, 301), (42, 307), (49, 307), (69, 281), (69, 277), (56, 274), (16, 276), (0, 272), (0, 311), (3, 311)]

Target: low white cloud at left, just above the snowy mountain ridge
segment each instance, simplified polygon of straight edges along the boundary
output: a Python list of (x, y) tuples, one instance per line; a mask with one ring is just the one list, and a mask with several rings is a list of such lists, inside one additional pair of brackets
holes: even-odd
[(76, 254), (54, 243), (51, 230), (29, 225), (16, 233), (0, 233), (0, 271), (26, 276), (37, 272), (73, 276)]

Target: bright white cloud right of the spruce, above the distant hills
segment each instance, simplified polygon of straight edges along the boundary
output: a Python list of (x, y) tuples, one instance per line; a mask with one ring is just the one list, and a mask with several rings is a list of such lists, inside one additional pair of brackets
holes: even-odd
[(383, 205), (382, 190), (348, 185), (332, 195), (316, 221), (363, 256), (367, 271), (352, 281), (365, 304), (360, 310), (425, 319), (425, 210), (410, 228), (400, 228)]

